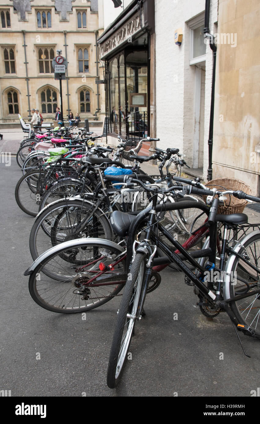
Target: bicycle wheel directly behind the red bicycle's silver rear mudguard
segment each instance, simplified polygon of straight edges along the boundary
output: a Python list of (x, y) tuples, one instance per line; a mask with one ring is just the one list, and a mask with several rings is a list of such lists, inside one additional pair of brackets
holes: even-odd
[[(86, 232), (88, 231), (90, 224), (86, 226), (85, 232), (83, 229), (81, 234), (73, 235), (73, 227), (76, 222), (75, 218), (73, 218), (73, 214), (87, 214), (90, 207), (91, 204), (84, 202), (81, 199), (61, 200), (54, 204), (48, 205), (48, 208), (35, 220), (31, 229), (29, 247), (32, 258), (35, 260), (38, 256), (40, 256), (40, 254), (48, 250), (48, 248), (51, 246), (62, 243), (65, 241), (65, 237), (67, 237), (69, 240), (74, 240), (75, 238), (84, 236), (89, 237), (90, 233), (86, 234)], [(63, 227), (60, 226), (60, 228), (57, 228), (58, 223), (56, 223), (56, 233), (54, 234), (54, 230), (52, 230), (52, 228), (56, 222), (57, 217), (59, 217), (59, 222), (61, 222), (61, 214), (65, 215), (65, 222), (63, 223)], [(70, 218), (68, 217), (69, 214), (71, 214)], [(111, 229), (110, 223), (105, 215), (102, 215), (102, 211), (99, 209), (96, 210), (93, 216), (99, 222), (98, 234), (96, 237), (102, 239), (105, 238), (106, 240), (113, 240), (113, 231)], [(80, 216), (76, 217), (76, 219), (80, 219)], [(59, 231), (58, 234), (57, 231)]]

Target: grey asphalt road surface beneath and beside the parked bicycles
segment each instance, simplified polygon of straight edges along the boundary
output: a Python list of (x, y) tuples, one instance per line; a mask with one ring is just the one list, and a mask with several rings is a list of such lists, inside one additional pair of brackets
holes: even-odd
[(115, 390), (107, 388), (120, 297), (87, 312), (86, 320), (34, 303), (23, 276), (32, 262), (28, 239), (34, 218), (15, 202), (20, 176), (15, 158), (11, 166), (0, 163), (0, 390), (11, 390), (11, 396), (248, 397), (260, 387), (259, 340), (241, 335), (252, 355), (247, 358), (229, 318), (221, 313), (211, 321), (201, 315), (184, 276), (169, 268), (147, 295), (147, 315), (136, 325), (122, 381)]

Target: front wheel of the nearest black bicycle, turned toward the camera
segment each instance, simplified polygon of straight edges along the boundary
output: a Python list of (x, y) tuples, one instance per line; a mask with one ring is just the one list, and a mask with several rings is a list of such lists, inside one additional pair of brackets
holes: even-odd
[(144, 282), (144, 271), (144, 255), (138, 253), (128, 274), (110, 351), (107, 368), (107, 385), (111, 389), (115, 388), (119, 382), (135, 322), (141, 314), (139, 305)]

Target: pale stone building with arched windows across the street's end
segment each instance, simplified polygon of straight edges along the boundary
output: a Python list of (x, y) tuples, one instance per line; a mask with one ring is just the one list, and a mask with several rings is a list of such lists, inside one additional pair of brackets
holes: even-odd
[(51, 121), (60, 107), (52, 59), (68, 61), (62, 81), (63, 115), (93, 119), (102, 111), (96, 39), (98, 0), (2, 0), (0, 5), (0, 123), (26, 120), (38, 108)]

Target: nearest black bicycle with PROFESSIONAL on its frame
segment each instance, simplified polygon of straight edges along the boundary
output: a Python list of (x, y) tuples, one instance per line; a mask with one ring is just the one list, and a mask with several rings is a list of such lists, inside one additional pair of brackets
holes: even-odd
[[(116, 177), (116, 181), (126, 181), (124, 178)], [(237, 198), (260, 202), (260, 198), (246, 195), (242, 191), (220, 192), (216, 189), (206, 190), (197, 187), (179, 187), (179, 190), (187, 190), (198, 195), (207, 195), (209, 208), (202, 202), (194, 204), (191, 201), (157, 204), (158, 194), (161, 190), (148, 189), (140, 181), (133, 179), (132, 183), (141, 185), (144, 190), (153, 196), (153, 204), (143, 212), (139, 213), (131, 223), (127, 238), (127, 266), (128, 278), (124, 288), (122, 301), (119, 307), (116, 328), (113, 336), (110, 358), (107, 370), (107, 385), (116, 387), (127, 358), (131, 338), (134, 334), (136, 321), (140, 320), (144, 312), (144, 301), (147, 293), (155, 264), (157, 248), (164, 251), (165, 257), (159, 258), (159, 263), (173, 262), (179, 270), (183, 271), (187, 279), (194, 286), (199, 295), (200, 302), (205, 308), (214, 314), (225, 311), (232, 321), (237, 337), (237, 330), (247, 335), (260, 338), (260, 225), (253, 232), (246, 232), (244, 227), (248, 225), (248, 217), (245, 214), (221, 215), (218, 214), (219, 198), (222, 195), (234, 195)], [(128, 187), (131, 181), (128, 180)], [(194, 184), (197, 183), (194, 181)], [(198, 183), (199, 187), (199, 183)], [(178, 186), (170, 187), (166, 191), (178, 190)], [(176, 209), (201, 209), (208, 215), (209, 241), (203, 249), (189, 253), (172, 237), (172, 234), (160, 223), (162, 210)], [(112, 214), (113, 217), (113, 214)], [(217, 221), (223, 223), (223, 239), (221, 243), (220, 263), (216, 266), (217, 251)], [(135, 240), (138, 227), (147, 222), (143, 241), (140, 240), (141, 233)], [(236, 234), (241, 230), (243, 237), (236, 240), (228, 240), (228, 230), (233, 228)], [(159, 230), (159, 231), (158, 231)], [(165, 243), (161, 234), (169, 240)], [(176, 254), (178, 249), (179, 254)], [(195, 258), (201, 258), (199, 262)], [(184, 262), (185, 260), (185, 262)], [(186, 265), (195, 267), (195, 273)], [(158, 264), (158, 259), (157, 259)], [(210, 270), (218, 271), (217, 280), (211, 278)], [(158, 270), (158, 267), (157, 267)], [(235, 275), (235, 280), (232, 279)], [(239, 338), (243, 348), (242, 342)], [(244, 350), (244, 348), (243, 348)], [(244, 353), (246, 354), (245, 350)], [(249, 356), (246, 354), (246, 356)]]

